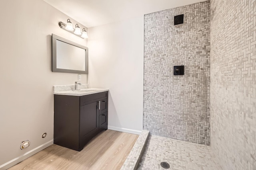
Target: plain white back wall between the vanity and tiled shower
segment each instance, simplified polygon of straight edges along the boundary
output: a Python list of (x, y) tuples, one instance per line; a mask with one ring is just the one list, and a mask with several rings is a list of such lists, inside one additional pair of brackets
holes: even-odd
[(138, 133), (143, 116), (144, 16), (88, 29), (92, 88), (109, 88), (108, 127)]

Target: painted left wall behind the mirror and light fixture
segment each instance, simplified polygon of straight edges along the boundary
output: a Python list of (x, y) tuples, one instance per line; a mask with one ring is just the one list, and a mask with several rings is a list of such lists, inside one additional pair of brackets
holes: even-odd
[[(52, 86), (73, 84), (78, 74), (51, 71), (51, 35), (87, 45), (86, 39), (60, 29), (58, 22), (68, 18), (42, 0), (1, 1), (0, 166), (52, 142)], [(87, 83), (86, 74), (82, 83)], [(47, 136), (42, 139), (44, 132)], [(20, 150), (25, 139), (31, 145)]]

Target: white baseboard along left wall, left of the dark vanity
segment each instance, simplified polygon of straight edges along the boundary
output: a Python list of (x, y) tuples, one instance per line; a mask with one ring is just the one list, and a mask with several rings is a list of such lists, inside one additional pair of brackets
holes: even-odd
[(33, 154), (36, 154), (37, 152), (49, 147), (52, 144), (53, 144), (53, 139), (44, 143), (43, 145), (40, 145), (39, 147), (36, 147), (35, 149), (32, 149), (32, 150), (14, 158), (13, 160), (10, 160), (9, 162), (6, 162), (5, 164), (0, 165), (0, 170), (6, 170), (6, 169), (16, 165), (19, 162), (21, 162), (22, 160), (25, 160), (26, 158), (32, 156)]

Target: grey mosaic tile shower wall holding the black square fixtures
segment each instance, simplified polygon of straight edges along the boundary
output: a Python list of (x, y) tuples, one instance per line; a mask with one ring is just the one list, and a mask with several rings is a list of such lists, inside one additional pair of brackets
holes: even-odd
[[(173, 75), (176, 65), (184, 75)], [(143, 129), (210, 145), (209, 88), (210, 1), (145, 15)]]

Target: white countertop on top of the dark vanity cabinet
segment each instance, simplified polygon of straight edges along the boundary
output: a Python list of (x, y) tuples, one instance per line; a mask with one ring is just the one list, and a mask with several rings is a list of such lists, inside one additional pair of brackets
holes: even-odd
[(100, 92), (107, 92), (108, 89), (101, 89), (101, 88), (86, 88), (81, 90), (68, 90), (68, 91), (61, 91), (61, 92), (54, 92), (53, 94), (58, 95), (68, 95), (68, 96), (84, 96), (88, 94), (100, 93)]

